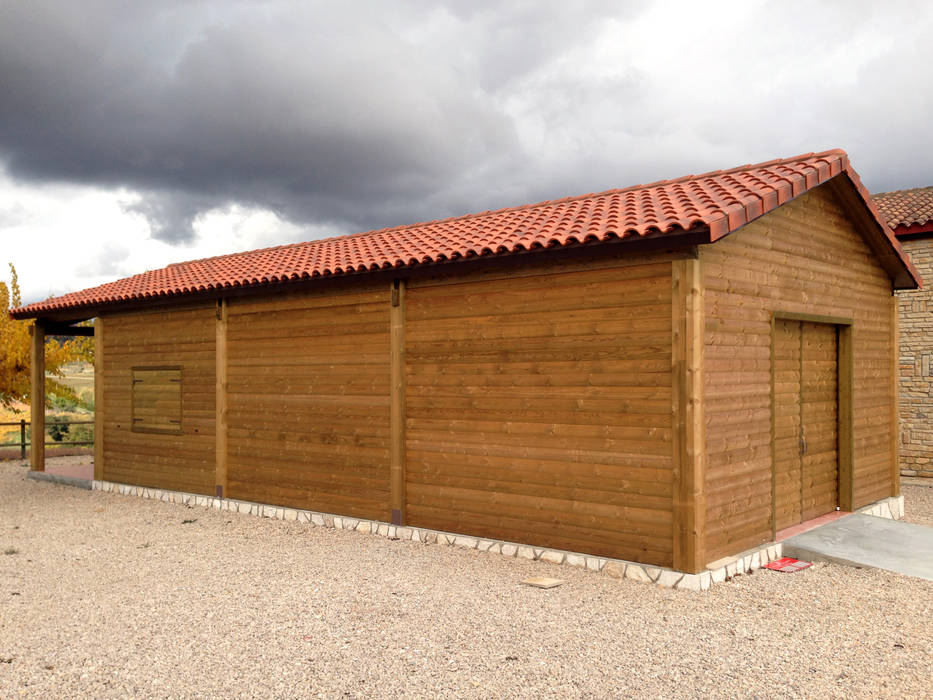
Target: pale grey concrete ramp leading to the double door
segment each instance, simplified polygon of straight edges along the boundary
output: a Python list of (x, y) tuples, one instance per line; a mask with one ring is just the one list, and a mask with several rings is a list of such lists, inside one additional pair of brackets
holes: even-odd
[(855, 513), (785, 540), (784, 556), (933, 581), (933, 527)]

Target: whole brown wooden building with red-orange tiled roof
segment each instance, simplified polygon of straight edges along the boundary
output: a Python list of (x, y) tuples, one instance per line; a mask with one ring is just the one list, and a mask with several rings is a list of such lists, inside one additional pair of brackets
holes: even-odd
[(918, 284), (829, 151), (13, 313), (97, 318), (97, 479), (697, 572), (898, 494)]

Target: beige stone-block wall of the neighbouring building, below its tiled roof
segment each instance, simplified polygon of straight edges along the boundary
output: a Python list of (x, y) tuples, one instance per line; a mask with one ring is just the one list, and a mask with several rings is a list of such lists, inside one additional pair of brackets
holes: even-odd
[(933, 478), (933, 237), (901, 241), (924, 289), (899, 291), (901, 475)]

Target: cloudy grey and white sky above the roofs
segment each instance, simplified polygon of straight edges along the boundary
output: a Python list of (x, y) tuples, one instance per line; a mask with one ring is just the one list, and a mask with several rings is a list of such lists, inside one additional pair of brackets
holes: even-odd
[(28, 302), (834, 147), (930, 185), (931, 36), (923, 0), (0, 0), (0, 263)]

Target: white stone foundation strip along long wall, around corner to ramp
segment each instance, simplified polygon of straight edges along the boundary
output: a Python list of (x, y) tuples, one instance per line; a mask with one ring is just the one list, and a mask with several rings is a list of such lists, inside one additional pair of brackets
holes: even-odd
[[(493, 552), (506, 557), (546, 561), (552, 564), (577, 566), (589, 571), (602, 573), (611, 578), (628, 579), (630, 581), (644, 581), (654, 583), (662, 588), (674, 588), (687, 591), (705, 591), (714, 583), (729, 581), (736, 576), (755, 571), (770, 561), (781, 558), (782, 545), (774, 543), (750, 549), (735, 557), (727, 557), (710, 565), (706, 571), (698, 574), (685, 574), (660, 566), (639, 564), (622, 559), (598, 557), (592, 554), (567, 552), (547, 547), (535, 547), (516, 542), (503, 542), (490, 540), (471, 535), (459, 535), (439, 530), (428, 530), (422, 527), (390, 525), (378, 520), (363, 520), (345, 515), (333, 515), (312, 510), (272, 506), (251, 501), (239, 501), (230, 498), (215, 498), (201, 494), (185, 493), (183, 491), (169, 491), (166, 489), (153, 489), (145, 486), (132, 486), (118, 484), (112, 481), (93, 481), (94, 491), (115, 493), (122, 496), (137, 496), (166, 503), (177, 503), (186, 506), (200, 506), (214, 510), (226, 510), (234, 513), (256, 515), (262, 518), (275, 520), (293, 520), (307, 523), (317, 527), (334, 528), (337, 530), (355, 530), (390, 540), (411, 540), (424, 544), (446, 544), (464, 549), (475, 549), (480, 552)], [(902, 509), (903, 510), (903, 509)]]

